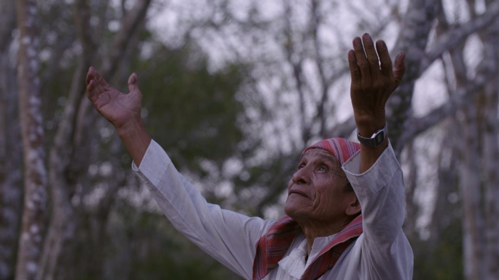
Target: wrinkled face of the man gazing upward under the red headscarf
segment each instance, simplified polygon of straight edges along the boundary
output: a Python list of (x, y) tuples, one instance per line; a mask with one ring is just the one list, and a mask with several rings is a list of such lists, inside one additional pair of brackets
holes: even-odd
[(309, 149), (289, 180), (284, 212), (293, 219), (342, 218), (352, 199), (356, 199), (353, 191), (345, 191), (346, 182), (345, 173), (331, 153), (320, 148)]

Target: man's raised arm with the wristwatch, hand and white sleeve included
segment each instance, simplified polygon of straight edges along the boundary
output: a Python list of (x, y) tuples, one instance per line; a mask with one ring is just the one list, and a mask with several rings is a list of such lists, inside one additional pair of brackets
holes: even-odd
[(361, 279), (412, 279), (413, 253), (402, 230), (405, 218), (402, 170), (386, 135), (384, 139), (383, 135), (369, 139), (386, 125), (385, 104), (402, 80), (405, 55), (397, 55), (392, 69), (386, 44), (379, 40), (375, 48), (367, 33), (362, 40), (356, 37), (353, 47), (348, 52), (351, 98), (362, 141), (360, 156), (345, 162), (343, 170), (362, 209), (363, 235), (359, 239), (365, 270)]

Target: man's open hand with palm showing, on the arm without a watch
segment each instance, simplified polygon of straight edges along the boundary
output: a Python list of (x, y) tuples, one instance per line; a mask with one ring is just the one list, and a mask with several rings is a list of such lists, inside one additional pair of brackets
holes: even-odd
[(88, 69), (86, 84), (88, 99), (116, 128), (118, 134), (132, 133), (135, 125), (142, 122), (142, 93), (139, 90), (137, 74), (132, 73), (128, 78), (128, 94), (110, 86), (93, 67)]

